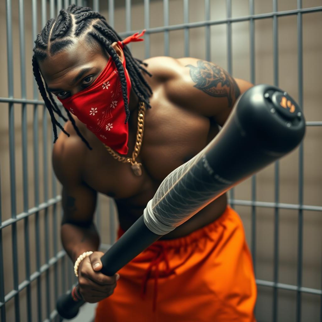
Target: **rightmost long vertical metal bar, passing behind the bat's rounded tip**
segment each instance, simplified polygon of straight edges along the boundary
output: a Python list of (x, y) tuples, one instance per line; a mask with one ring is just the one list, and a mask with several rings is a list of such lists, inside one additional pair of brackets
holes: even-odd
[[(302, 0), (297, 0), (298, 9), (302, 9)], [(303, 29), (302, 14), (298, 13), (297, 21), (298, 32), (298, 104), (303, 109)], [(301, 142), (298, 151), (298, 204), (303, 204), (303, 142)], [(297, 284), (302, 286), (302, 262), (303, 262), (303, 210), (298, 210), (298, 267)], [(296, 294), (296, 321), (301, 321), (302, 294), (298, 290)]]

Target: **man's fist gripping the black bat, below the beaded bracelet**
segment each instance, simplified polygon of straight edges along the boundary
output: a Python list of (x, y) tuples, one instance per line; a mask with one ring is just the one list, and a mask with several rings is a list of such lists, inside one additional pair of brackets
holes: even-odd
[(99, 272), (102, 269), (100, 258), (104, 255), (95, 251), (81, 261), (78, 267), (78, 291), (86, 302), (96, 303), (113, 294), (119, 274), (106, 276)]

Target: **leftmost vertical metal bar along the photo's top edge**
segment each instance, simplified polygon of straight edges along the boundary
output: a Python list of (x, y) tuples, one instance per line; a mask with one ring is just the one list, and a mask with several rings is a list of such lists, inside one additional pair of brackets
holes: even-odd
[[(8, 68), (8, 96), (14, 95), (13, 83), (13, 44), (12, 44), (12, 7), (11, 1), (6, 1), (6, 24), (7, 24), (7, 68)], [(15, 152), (14, 152), (14, 104), (9, 103), (9, 158), (10, 158), (10, 199), (11, 218), (16, 218), (16, 180), (15, 180)], [(14, 277), (14, 289), (18, 291), (18, 248), (17, 248), (17, 224), (11, 226), (12, 240), (12, 265)], [(19, 293), (14, 296), (14, 311), (16, 321), (20, 321)]]

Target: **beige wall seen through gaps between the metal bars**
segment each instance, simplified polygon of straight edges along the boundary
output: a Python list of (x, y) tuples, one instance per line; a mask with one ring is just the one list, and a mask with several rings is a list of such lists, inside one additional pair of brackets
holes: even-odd
[[(144, 28), (143, 0), (132, 1), (132, 30)], [(25, 33), (26, 33), (26, 73), (27, 73), (27, 98), (32, 99), (33, 76), (31, 69), (31, 56), (33, 40), (31, 36), (31, 0), (25, 1)], [(40, 17), (40, 1), (38, 1), (38, 16)], [(117, 1), (115, 5), (115, 29), (121, 33), (125, 31), (125, 1)], [(90, 4), (90, 1), (89, 1)], [(243, 16), (249, 12), (248, 1), (232, 1), (232, 16)], [(303, 0), (303, 7), (319, 6), (320, 0)], [(14, 39), (14, 97), (20, 98), (20, 56), (19, 56), (19, 27), (18, 27), (18, 0), (12, 1), (13, 6), (13, 39)], [(107, 1), (101, 1), (101, 13), (108, 17)], [(183, 0), (170, 0), (170, 24), (183, 23)], [(279, 1), (279, 10), (296, 9), (296, 0)], [(190, 1), (189, 19), (193, 21), (204, 20), (204, 2)], [(255, 1), (255, 13), (271, 12), (271, 2), (264, 0)], [(224, 19), (226, 14), (224, 1), (211, 1), (211, 19)], [(1, 43), (0, 61), (3, 67), (3, 77), (0, 80), (0, 97), (7, 97), (7, 64), (6, 64), (6, 25), (5, 25), (5, 2), (0, 2), (0, 27)], [(40, 18), (38, 25), (40, 25)], [(150, 26), (163, 25), (162, 1), (151, 1)], [(40, 28), (38, 28), (40, 31)], [(321, 121), (321, 82), (322, 74), (322, 17), (320, 13), (303, 15), (303, 98), (304, 112), (308, 121)], [(183, 31), (170, 32), (170, 55), (182, 57), (184, 55)], [(190, 30), (190, 56), (205, 59), (204, 28)], [(164, 54), (164, 38), (162, 33), (152, 34), (151, 56)], [(232, 74), (236, 78), (250, 80), (250, 52), (249, 52), (249, 23), (241, 22), (232, 25)], [(226, 26), (218, 25), (211, 27), (211, 60), (223, 68), (227, 68), (226, 52)], [(273, 49), (272, 49), (272, 20), (255, 21), (255, 82), (273, 83)], [(144, 58), (144, 43), (131, 45), (133, 55)], [(279, 18), (279, 86), (287, 90), (291, 96), (298, 99), (298, 74), (297, 74), (297, 18), (286, 16)], [(1, 175), (1, 210), (2, 220), (11, 216), (10, 210), (10, 177), (9, 177), (9, 138), (8, 138), (8, 105), (0, 103), (0, 175)], [(43, 108), (39, 107), (39, 174), (40, 174), (40, 202), (43, 198), (43, 146), (42, 146), (42, 117)], [(33, 106), (28, 105), (28, 194), (29, 208), (34, 205), (34, 171), (33, 171)], [(22, 188), (22, 154), (21, 154), (21, 106), (14, 105), (15, 112), (15, 153), (16, 153), (16, 196), (17, 213), (23, 211), (23, 188)], [(47, 114), (46, 114), (47, 115)], [(308, 127), (304, 139), (304, 204), (321, 206), (322, 196), (322, 170), (321, 170), (321, 127)], [(51, 123), (48, 122), (48, 166), (50, 168), (50, 156), (52, 145)], [(59, 186), (57, 188), (59, 193)], [(51, 171), (49, 173), (49, 194), (51, 190)], [(274, 201), (274, 165), (267, 167), (257, 175), (257, 200)], [(247, 180), (235, 188), (235, 198), (250, 200), (251, 181)], [(298, 203), (298, 149), (280, 161), (280, 202)], [(103, 232), (109, 231), (109, 199), (101, 197), (101, 226)], [(240, 213), (249, 245), (251, 243), (251, 209), (246, 206), (237, 206)], [(257, 208), (256, 223), (256, 273), (258, 279), (273, 279), (273, 242), (274, 242), (274, 210), (269, 208)], [(107, 214), (106, 214), (107, 213)], [(105, 215), (106, 214), (106, 215)], [(304, 211), (304, 234), (303, 234), (303, 286), (321, 289), (321, 212)], [(52, 208), (49, 209), (50, 223), (52, 221)], [(44, 213), (40, 212), (41, 240), (44, 235)], [(60, 218), (60, 211), (58, 211)], [(34, 216), (30, 217), (30, 248), (31, 270), (35, 270), (35, 247), (34, 247)], [(19, 282), (24, 280), (24, 231), (23, 222), (18, 227), (19, 247)], [(52, 225), (50, 227), (50, 257), (54, 256), (52, 247)], [(59, 230), (59, 227), (57, 227)], [(279, 218), (279, 282), (296, 284), (297, 281), (297, 241), (298, 241), (298, 213), (295, 210), (280, 210)], [(59, 238), (59, 236), (58, 236)], [(109, 243), (109, 236), (103, 234), (102, 241)], [(5, 293), (13, 289), (12, 283), (12, 246), (11, 228), (3, 229), (3, 249), (5, 267)], [(59, 246), (61, 249), (61, 246)], [(41, 262), (45, 263), (44, 244), (41, 245)], [(61, 263), (58, 264), (59, 279)], [(70, 268), (71, 266), (69, 266)], [(50, 273), (50, 281), (53, 286), (53, 274)], [(61, 284), (61, 283), (60, 283)], [(60, 285), (59, 284), (59, 285)], [(44, 285), (44, 278), (43, 278)], [(33, 297), (35, 298), (35, 283), (33, 283)], [(61, 288), (60, 288), (61, 289)], [(257, 302), (257, 318), (259, 321), (271, 321), (272, 289), (259, 287)], [(43, 287), (43, 294), (45, 289)], [(53, 296), (52, 309), (54, 305)], [(25, 291), (21, 294), (24, 303)], [(302, 317), (304, 321), (316, 321), (319, 318), (318, 296), (303, 294)], [(43, 302), (45, 300), (43, 299)], [(14, 318), (13, 300), (7, 305), (7, 320)], [(279, 291), (279, 321), (294, 321), (296, 311), (296, 294), (291, 291)], [(21, 308), (24, 316), (24, 304)], [(33, 300), (33, 314), (36, 312), (35, 300)], [(22, 319), (24, 320), (24, 319)]]

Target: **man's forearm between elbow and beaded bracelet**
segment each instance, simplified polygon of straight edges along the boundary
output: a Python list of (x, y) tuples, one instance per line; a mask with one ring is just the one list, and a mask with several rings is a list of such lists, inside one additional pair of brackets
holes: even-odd
[(97, 251), (99, 235), (92, 223), (80, 226), (74, 223), (63, 223), (61, 226), (62, 244), (73, 262), (85, 251)]

